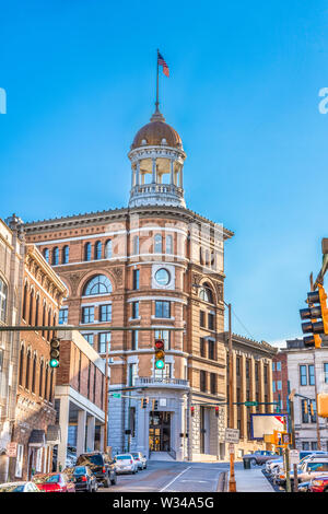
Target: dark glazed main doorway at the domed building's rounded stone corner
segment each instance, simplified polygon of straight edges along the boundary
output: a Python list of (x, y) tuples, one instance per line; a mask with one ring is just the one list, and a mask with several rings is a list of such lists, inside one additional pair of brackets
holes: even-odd
[(169, 452), (171, 412), (150, 412), (149, 448), (151, 452)]

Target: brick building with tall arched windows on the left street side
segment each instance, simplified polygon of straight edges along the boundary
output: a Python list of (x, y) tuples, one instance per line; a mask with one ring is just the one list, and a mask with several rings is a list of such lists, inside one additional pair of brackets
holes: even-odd
[[(65, 284), (35, 245), (24, 246), (24, 278), (21, 325), (55, 326), (67, 295)], [(52, 331), (21, 331), (17, 355), (16, 406), (12, 442), (17, 457), (11, 459), (10, 476), (28, 479), (32, 469), (48, 471), (52, 467), (52, 434), (56, 421), (54, 405), (56, 370), (49, 367)]]

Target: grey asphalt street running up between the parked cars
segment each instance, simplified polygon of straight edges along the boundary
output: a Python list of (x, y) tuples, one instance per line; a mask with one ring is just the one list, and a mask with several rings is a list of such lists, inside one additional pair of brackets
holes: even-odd
[(174, 463), (149, 460), (137, 475), (118, 475), (117, 484), (98, 492), (215, 492), (227, 463)]

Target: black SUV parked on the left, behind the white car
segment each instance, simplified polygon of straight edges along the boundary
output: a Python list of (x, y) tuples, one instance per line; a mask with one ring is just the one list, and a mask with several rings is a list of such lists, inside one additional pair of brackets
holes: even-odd
[(103, 452), (89, 452), (79, 455), (77, 466), (89, 466), (91, 471), (95, 475), (97, 483), (109, 488), (117, 482), (115, 463), (109, 458), (109, 455)]

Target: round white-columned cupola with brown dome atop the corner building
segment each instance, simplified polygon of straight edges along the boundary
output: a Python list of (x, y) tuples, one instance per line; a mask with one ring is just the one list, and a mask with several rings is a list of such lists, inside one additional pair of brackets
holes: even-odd
[(183, 170), (186, 153), (177, 131), (156, 110), (136, 135), (128, 154), (132, 183), (129, 207), (186, 207)]

